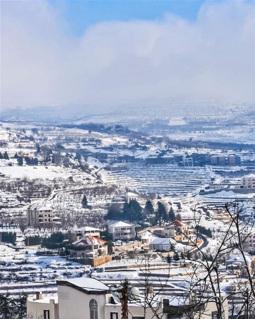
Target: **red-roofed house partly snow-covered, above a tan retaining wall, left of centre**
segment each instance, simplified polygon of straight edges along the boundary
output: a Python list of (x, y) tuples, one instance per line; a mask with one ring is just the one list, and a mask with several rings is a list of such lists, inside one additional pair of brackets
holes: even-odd
[(108, 255), (107, 242), (101, 238), (86, 236), (75, 241), (70, 249), (71, 257), (98, 257)]

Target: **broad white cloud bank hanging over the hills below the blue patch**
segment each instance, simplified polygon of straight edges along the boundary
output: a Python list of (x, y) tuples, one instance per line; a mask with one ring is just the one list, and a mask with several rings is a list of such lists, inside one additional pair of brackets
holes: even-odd
[(195, 22), (112, 21), (71, 36), (44, 1), (1, 3), (1, 106), (186, 98), (255, 102), (255, 2), (205, 3)]

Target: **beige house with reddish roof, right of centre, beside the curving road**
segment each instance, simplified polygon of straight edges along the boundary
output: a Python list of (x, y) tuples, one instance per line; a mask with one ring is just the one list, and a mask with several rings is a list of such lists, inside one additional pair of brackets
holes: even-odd
[(190, 225), (180, 220), (175, 220), (164, 226), (162, 235), (171, 237), (177, 242), (189, 242), (190, 239), (193, 240), (193, 229)]

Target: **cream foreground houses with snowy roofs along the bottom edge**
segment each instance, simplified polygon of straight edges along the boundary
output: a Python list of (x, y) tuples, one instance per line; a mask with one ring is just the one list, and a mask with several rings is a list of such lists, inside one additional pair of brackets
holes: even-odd
[[(29, 318), (43, 319), (157, 319), (160, 318), (217, 318), (217, 304), (213, 300), (199, 300), (194, 292), (187, 296), (173, 296), (170, 292), (153, 294), (150, 288), (151, 302), (136, 287), (128, 287), (128, 302), (125, 304), (116, 288), (107, 286), (94, 278), (74, 278), (57, 281), (57, 295), (45, 297), (37, 293), (36, 297), (27, 297)], [(145, 305), (145, 306), (144, 306)], [(125, 310), (124, 310), (125, 309)], [(227, 299), (223, 304), (222, 318), (228, 319)], [(127, 317), (123, 317), (124, 313)], [(192, 316), (192, 317), (190, 317)]]

